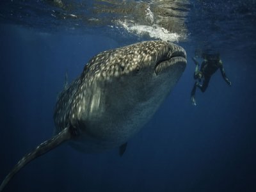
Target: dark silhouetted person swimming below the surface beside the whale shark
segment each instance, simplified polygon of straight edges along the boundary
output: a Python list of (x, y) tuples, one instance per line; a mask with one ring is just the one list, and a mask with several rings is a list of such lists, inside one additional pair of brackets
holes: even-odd
[[(195, 101), (195, 93), (196, 93), (196, 87), (200, 88), (201, 92), (205, 92), (207, 89), (207, 86), (209, 84), (209, 81), (211, 79), (212, 74), (220, 68), (221, 75), (223, 79), (226, 81), (226, 83), (231, 86), (231, 82), (228, 80), (228, 77), (225, 74), (225, 70), (222, 65), (222, 61), (220, 59), (220, 54), (208, 54), (204, 53), (202, 54), (202, 58), (204, 58), (204, 61), (201, 64), (200, 70), (198, 70), (199, 63), (196, 61), (196, 57), (198, 57), (198, 54), (195, 54), (195, 57), (192, 58), (192, 60), (196, 64), (195, 73), (194, 73), (194, 79), (198, 79), (198, 81), (195, 82), (193, 89), (191, 91), (191, 101), (192, 104), (196, 105)], [(203, 80), (203, 83), (200, 84), (200, 82)]]

